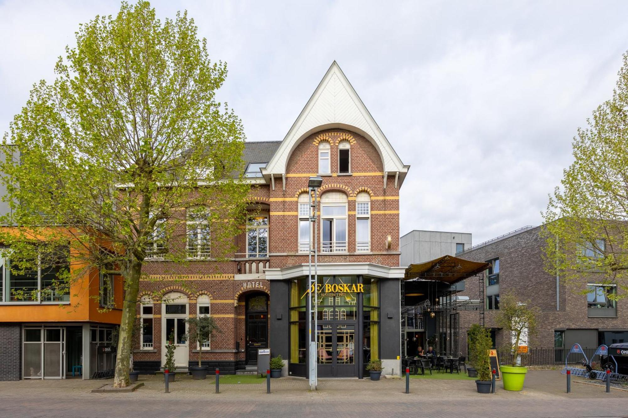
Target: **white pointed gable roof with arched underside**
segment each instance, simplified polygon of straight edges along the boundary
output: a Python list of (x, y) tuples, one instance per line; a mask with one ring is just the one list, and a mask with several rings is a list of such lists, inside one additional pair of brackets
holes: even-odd
[(384, 172), (389, 175), (398, 173), (401, 184), (409, 166), (401, 162), (335, 61), (290, 127), (271, 161), (262, 170), (264, 176), (286, 174), (288, 158), (299, 142), (313, 132), (330, 128), (354, 131), (371, 141), (382, 158)]

